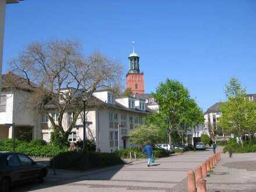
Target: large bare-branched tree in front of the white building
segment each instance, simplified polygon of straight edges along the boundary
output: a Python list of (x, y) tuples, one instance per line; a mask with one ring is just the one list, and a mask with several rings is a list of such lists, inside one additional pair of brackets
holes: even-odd
[[(71, 40), (34, 42), (13, 59), (10, 66), (13, 73), (33, 86), (30, 107), (46, 113), (52, 129), (66, 141), (83, 111), (83, 95), (86, 95), (88, 104), (93, 105), (94, 91), (101, 88), (118, 90), (122, 74), (118, 63), (100, 52), (86, 56), (81, 44)], [(65, 93), (63, 88), (67, 90)], [(58, 112), (58, 123), (50, 115), (50, 109)], [(65, 129), (63, 115), (70, 110), (73, 119)]]

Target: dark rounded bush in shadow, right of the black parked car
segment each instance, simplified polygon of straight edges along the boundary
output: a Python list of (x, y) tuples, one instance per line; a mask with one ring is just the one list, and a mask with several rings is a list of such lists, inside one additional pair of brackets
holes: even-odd
[(50, 165), (56, 169), (88, 170), (123, 163), (115, 153), (93, 151), (62, 152), (51, 159)]

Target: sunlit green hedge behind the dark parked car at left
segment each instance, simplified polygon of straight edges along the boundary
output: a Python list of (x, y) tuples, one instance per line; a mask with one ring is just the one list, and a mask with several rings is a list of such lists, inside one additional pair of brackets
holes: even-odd
[[(0, 151), (13, 151), (13, 140), (0, 140)], [(43, 140), (33, 140), (31, 142), (15, 140), (15, 151), (33, 157), (54, 157), (67, 151), (67, 147), (61, 148), (53, 144), (47, 144)]]

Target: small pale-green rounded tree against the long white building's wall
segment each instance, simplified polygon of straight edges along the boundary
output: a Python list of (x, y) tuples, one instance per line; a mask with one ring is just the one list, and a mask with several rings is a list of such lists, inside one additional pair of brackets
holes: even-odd
[(132, 145), (157, 144), (161, 140), (161, 128), (155, 125), (141, 125), (137, 126), (134, 131), (130, 133), (130, 143)]

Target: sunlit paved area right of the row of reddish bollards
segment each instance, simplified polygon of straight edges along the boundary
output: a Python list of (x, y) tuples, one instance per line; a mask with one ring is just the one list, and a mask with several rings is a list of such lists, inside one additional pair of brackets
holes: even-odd
[(207, 177), (208, 192), (255, 192), (256, 191), (256, 154), (222, 154), (221, 162)]

